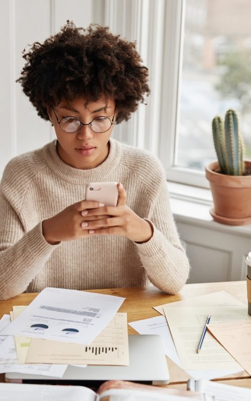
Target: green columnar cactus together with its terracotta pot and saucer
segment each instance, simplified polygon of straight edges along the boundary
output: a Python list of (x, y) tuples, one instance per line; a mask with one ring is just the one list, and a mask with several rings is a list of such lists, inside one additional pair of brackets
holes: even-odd
[(251, 161), (243, 161), (243, 141), (234, 110), (225, 121), (212, 121), (213, 141), (218, 161), (206, 166), (214, 207), (210, 214), (216, 222), (230, 226), (251, 223)]

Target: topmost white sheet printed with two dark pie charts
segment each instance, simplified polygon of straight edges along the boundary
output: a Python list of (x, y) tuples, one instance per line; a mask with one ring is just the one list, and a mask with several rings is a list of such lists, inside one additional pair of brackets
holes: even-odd
[(2, 333), (88, 345), (124, 299), (48, 287)]

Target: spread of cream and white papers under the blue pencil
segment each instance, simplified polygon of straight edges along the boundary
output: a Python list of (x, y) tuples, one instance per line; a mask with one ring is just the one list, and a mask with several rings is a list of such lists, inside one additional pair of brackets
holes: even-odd
[[(236, 325), (236, 322), (238, 326), (240, 322), (251, 325), (246, 305), (231, 295), (220, 291), (154, 308), (164, 316), (129, 324), (141, 334), (161, 335), (166, 355), (196, 380), (221, 377), (246, 369), (246, 365), (244, 366), (239, 359), (236, 360), (233, 352), (230, 354), (225, 349), (227, 347), (223, 347), (225, 346), (223, 342), (219, 340), (222, 346), (217, 341), (216, 331), (219, 333), (219, 326), (223, 322), (230, 323), (231, 327)], [(208, 328), (210, 330), (212, 327), (212, 333), (217, 339), (208, 331), (201, 352), (197, 353), (208, 314), (211, 315)], [(215, 323), (218, 323), (217, 326)]]

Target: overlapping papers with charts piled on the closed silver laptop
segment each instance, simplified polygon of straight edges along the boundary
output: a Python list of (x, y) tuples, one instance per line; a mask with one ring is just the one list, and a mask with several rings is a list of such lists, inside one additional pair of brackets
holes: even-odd
[(62, 377), (68, 364), (129, 365), (127, 314), (116, 313), (124, 299), (46, 288), (14, 306), (0, 320), (0, 372)]

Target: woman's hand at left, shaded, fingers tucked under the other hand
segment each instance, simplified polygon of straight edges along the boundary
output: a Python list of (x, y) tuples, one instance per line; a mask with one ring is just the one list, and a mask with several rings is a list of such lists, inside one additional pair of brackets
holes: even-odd
[[(68, 206), (62, 212), (46, 219), (42, 223), (43, 235), (51, 245), (59, 244), (61, 241), (72, 241), (82, 237), (90, 237), (88, 231), (83, 230), (83, 221), (104, 220), (109, 218), (105, 214), (97, 213), (104, 204), (92, 200), (82, 200)], [(86, 209), (88, 215), (83, 218)], [(90, 211), (92, 215), (90, 216)]]

